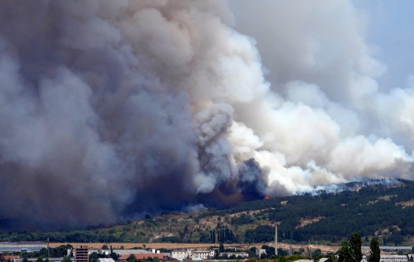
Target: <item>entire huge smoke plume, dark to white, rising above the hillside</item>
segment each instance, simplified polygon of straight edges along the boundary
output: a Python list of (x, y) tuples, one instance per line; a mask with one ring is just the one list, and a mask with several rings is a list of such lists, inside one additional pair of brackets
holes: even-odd
[(354, 7), (271, 5), (275, 21), (245, 29), (269, 38), (272, 85), (222, 0), (0, 1), (2, 224), (412, 179), (414, 85), (379, 92)]

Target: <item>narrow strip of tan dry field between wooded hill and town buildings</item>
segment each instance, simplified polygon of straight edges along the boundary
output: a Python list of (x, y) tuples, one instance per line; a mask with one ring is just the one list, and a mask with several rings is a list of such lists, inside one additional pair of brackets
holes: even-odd
[[(78, 246), (78, 245), (87, 245), (89, 247), (93, 248), (102, 248), (103, 245), (107, 245), (108, 247), (112, 245), (113, 249), (119, 249), (121, 246), (124, 246), (125, 249), (130, 249), (134, 247), (143, 247), (144, 244), (146, 248), (167, 248), (167, 249), (179, 249), (179, 248), (207, 248), (212, 245), (218, 246), (218, 243), (210, 244), (210, 243), (49, 243), (51, 247), (57, 247), (60, 245), (66, 245), (71, 244), (72, 246)], [(273, 245), (272, 245), (273, 244)], [(238, 249), (248, 249), (250, 247), (261, 247), (262, 245), (270, 245), (274, 246), (273, 242), (268, 243), (254, 243), (254, 244), (225, 244), (226, 248), (238, 248)], [(299, 248), (307, 249), (308, 247), (312, 250), (314, 249), (320, 249), (323, 252), (335, 252), (338, 250), (338, 247), (335, 246), (325, 246), (325, 245), (292, 245), (292, 244), (286, 244), (286, 243), (277, 243), (278, 248), (282, 249), (294, 249), (297, 250)]]

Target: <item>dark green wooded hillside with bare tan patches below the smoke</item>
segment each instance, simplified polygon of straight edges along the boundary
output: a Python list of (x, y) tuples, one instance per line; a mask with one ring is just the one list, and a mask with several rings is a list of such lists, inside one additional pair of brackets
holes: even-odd
[[(358, 184), (356, 184), (358, 185)], [(412, 244), (414, 236), (414, 182), (374, 184), (352, 191), (304, 194), (237, 204), (228, 209), (207, 209), (185, 214), (131, 221), (99, 229), (63, 232), (3, 232), (2, 241), (55, 242), (267, 242), (340, 243), (359, 231), (381, 245)], [(364, 238), (365, 237), (365, 238)]]

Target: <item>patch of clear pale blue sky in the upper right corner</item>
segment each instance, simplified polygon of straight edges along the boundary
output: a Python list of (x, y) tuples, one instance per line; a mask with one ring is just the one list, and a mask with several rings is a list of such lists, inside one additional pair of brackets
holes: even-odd
[(368, 41), (379, 47), (376, 57), (387, 71), (379, 79), (380, 88), (401, 87), (414, 74), (413, 1), (353, 1), (368, 18)]

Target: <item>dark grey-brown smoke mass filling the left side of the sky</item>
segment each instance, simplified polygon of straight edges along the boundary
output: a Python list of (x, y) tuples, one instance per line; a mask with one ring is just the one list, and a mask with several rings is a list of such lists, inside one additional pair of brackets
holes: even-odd
[(234, 110), (192, 93), (230, 20), (220, 1), (1, 1), (5, 228), (224, 204), (214, 190), (241, 201), (226, 185), (238, 180)]

